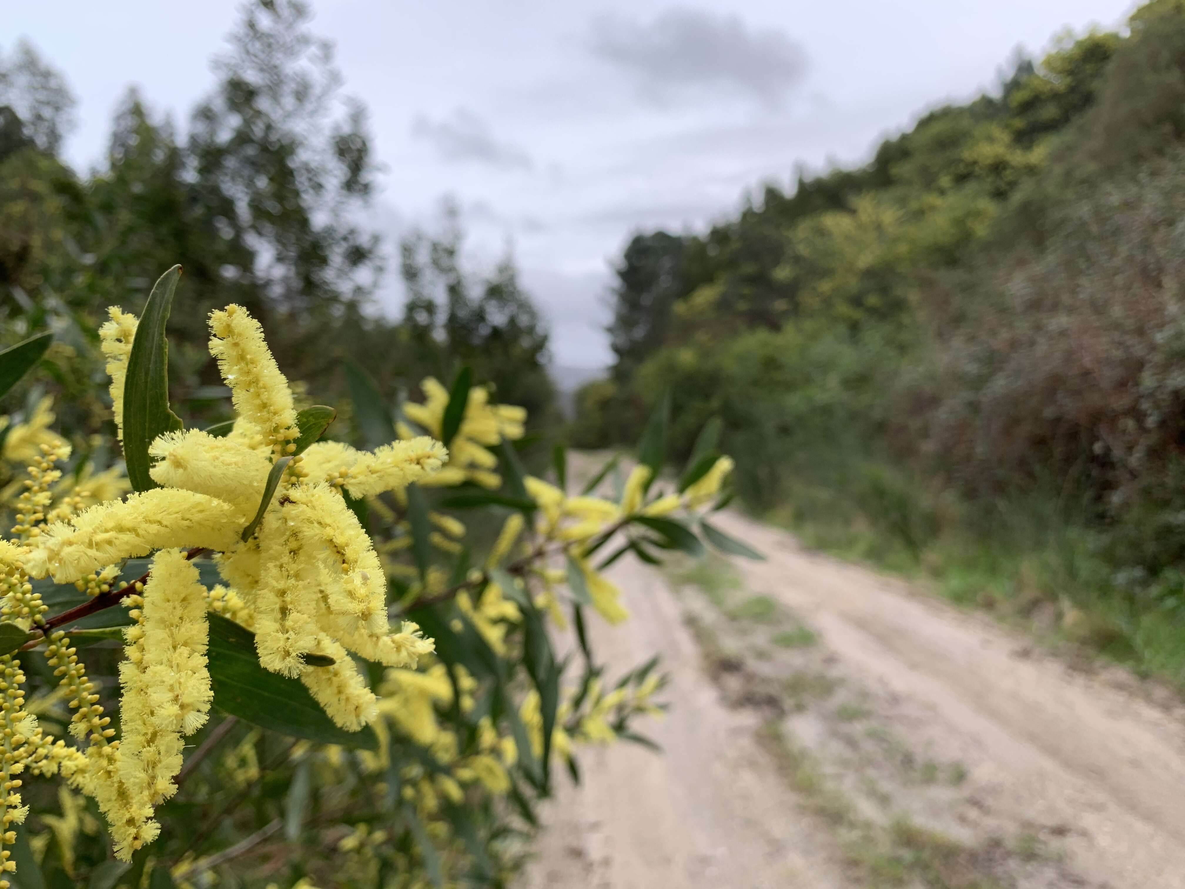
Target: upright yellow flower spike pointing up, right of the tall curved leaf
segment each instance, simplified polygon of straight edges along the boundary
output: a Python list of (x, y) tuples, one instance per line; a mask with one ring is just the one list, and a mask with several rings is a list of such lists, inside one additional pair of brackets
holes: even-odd
[(236, 412), (280, 455), (300, 433), (292, 390), (263, 339), (263, 328), (245, 308), (230, 305), (210, 313), (210, 354), (230, 386)]

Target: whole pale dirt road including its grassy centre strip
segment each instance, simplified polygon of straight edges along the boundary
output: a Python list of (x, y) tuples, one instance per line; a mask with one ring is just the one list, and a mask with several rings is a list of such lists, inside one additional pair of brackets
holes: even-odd
[(665, 749), (585, 753), (526, 885), (1185, 889), (1185, 718), (987, 619), (803, 551), (672, 580), (620, 562)]

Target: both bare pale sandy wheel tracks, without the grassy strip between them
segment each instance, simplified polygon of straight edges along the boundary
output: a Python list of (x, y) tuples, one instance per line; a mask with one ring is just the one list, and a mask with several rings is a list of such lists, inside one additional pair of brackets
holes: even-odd
[[(767, 555), (738, 561), (749, 589), (818, 633), (803, 657), (839, 677), (845, 699), (872, 714), (877, 736), (892, 733), (928, 761), (966, 773), (953, 788), (902, 784), (892, 806), (962, 842), (1024, 832), (1052, 850), (1039, 875), (1010, 871), (1004, 885), (1185, 889), (1179, 710), (1125, 689), (1115, 671), (1071, 670), (986, 618), (807, 552), (784, 532), (739, 516), (718, 524)], [(685, 600), (645, 565), (622, 559), (614, 573), (633, 619), (598, 626), (596, 645), (622, 669), (661, 652), (671, 711), (645, 730), (664, 754), (632, 744), (585, 753), (589, 780), (563, 782), (545, 808), (550, 826), (524, 885), (864, 885), (833, 830), (806, 811), (756, 742), (768, 716), (726, 703), (705, 672), (683, 621)], [(861, 742), (819, 712), (792, 714), (784, 725), (843, 785), (844, 773), (866, 767), (852, 755)]]

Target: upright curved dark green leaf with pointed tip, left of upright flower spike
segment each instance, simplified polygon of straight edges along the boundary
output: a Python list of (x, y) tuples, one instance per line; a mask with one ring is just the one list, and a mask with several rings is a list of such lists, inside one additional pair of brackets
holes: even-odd
[(168, 408), (168, 340), (165, 325), (181, 277), (174, 266), (156, 281), (136, 325), (123, 384), (123, 459), (134, 491), (159, 487), (148, 469), (148, 446), (158, 435), (181, 429), (181, 420)]

